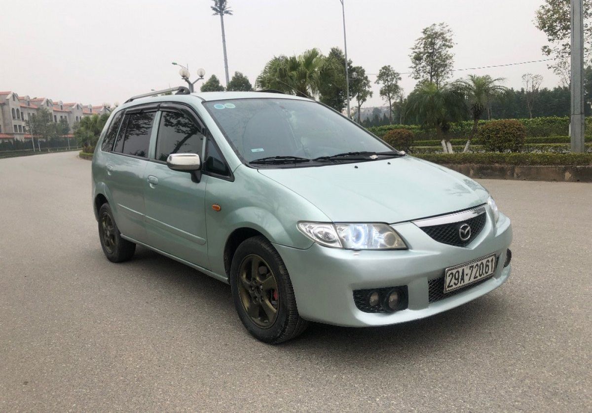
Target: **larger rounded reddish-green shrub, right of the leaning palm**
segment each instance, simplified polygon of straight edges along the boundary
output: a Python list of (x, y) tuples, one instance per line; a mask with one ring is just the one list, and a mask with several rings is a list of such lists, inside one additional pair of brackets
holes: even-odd
[(526, 128), (513, 119), (491, 121), (479, 128), (477, 138), (487, 150), (519, 152), (524, 145)]

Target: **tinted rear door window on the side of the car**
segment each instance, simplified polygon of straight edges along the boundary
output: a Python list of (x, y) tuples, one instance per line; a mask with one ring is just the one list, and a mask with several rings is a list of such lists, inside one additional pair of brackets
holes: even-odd
[(150, 133), (156, 112), (126, 114), (124, 124), (115, 143), (114, 152), (126, 155), (147, 157), (150, 146)]

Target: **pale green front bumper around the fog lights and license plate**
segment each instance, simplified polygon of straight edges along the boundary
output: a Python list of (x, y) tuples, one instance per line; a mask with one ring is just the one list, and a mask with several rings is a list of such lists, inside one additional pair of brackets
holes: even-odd
[[(481, 233), (466, 247), (439, 243), (411, 222), (393, 226), (408, 250), (352, 251), (313, 244), (306, 250), (274, 244), (292, 281), (298, 312), (310, 321), (349, 327), (388, 325), (417, 320), (465, 304), (496, 289), (510, 276), (503, 267), (512, 231), (509, 218), (500, 214), (497, 225), (488, 214)], [(428, 281), (444, 269), (488, 254), (499, 256), (494, 275), (474, 287), (429, 302)], [(408, 307), (391, 313), (363, 312), (353, 291), (407, 285)]]

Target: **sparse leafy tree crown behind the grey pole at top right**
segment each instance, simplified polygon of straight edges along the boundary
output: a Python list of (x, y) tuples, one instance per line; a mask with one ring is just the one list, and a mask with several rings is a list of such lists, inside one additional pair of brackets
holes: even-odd
[[(564, 86), (570, 85), (571, 54), (571, 5), (570, 0), (545, 0), (536, 11), (536, 28), (543, 31), (549, 44), (542, 47), (543, 53), (555, 57), (549, 64), (556, 75), (561, 76)], [(584, 56), (592, 51), (592, 0), (584, 0)]]

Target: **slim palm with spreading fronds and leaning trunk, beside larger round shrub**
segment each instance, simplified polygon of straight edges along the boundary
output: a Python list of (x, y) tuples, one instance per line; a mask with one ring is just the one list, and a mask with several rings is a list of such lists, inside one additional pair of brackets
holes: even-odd
[(477, 127), (481, 115), (487, 109), (488, 105), (493, 99), (501, 99), (506, 95), (508, 88), (499, 85), (498, 82), (503, 82), (504, 78), (493, 79), (489, 75), (477, 76), (469, 75), (467, 79), (459, 79), (453, 83), (453, 87), (464, 93), (468, 104), (469, 111), (473, 118), (473, 129), (471, 136), (465, 144), (463, 152), (468, 151), (469, 144), (471, 144), (471, 137), (477, 134)]

